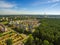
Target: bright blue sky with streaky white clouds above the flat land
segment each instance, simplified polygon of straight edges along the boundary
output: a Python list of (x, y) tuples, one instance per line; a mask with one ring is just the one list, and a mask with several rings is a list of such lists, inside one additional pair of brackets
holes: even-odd
[(60, 14), (60, 0), (0, 0), (0, 15)]

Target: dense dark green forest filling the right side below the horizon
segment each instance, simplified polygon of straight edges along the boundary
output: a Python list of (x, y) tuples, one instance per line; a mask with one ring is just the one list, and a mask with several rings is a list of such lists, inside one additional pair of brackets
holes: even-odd
[(42, 18), (36, 30), (29, 34), (25, 45), (60, 45), (60, 19)]

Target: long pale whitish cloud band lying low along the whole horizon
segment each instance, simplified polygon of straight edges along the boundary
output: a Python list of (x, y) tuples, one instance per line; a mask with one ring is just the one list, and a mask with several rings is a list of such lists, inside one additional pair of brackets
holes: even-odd
[[(0, 10), (0, 15), (18, 15), (18, 14), (44, 14), (40, 11), (29, 11), (29, 10), (12, 10), (12, 9), (2, 9)], [(60, 11), (46, 11), (46, 14), (60, 14)]]

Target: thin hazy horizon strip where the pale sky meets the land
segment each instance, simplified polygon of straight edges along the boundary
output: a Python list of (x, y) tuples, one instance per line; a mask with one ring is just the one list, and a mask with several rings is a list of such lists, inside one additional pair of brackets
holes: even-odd
[(60, 16), (60, 14), (5, 14), (0, 16)]

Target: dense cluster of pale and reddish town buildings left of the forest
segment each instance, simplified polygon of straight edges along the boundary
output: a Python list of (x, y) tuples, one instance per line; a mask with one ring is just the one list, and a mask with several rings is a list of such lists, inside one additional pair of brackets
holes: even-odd
[(17, 21), (10, 21), (10, 25), (14, 25), (14, 27), (22, 28), (24, 30), (31, 31), (33, 28), (38, 27), (39, 21), (36, 19), (30, 20), (17, 20)]

